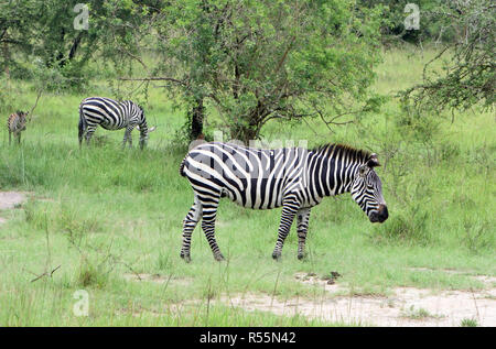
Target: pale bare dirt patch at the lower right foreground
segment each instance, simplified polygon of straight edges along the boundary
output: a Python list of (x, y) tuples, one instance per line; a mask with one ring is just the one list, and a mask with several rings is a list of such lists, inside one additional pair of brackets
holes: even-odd
[[(247, 310), (277, 315), (302, 315), (325, 321), (370, 326), (461, 326), (474, 319), (478, 326), (496, 326), (496, 288), (485, 291), (442, 291), (397, 287), (390, 296), (349, 295), (337, 283), (328, 284), (316, 275), (299, 273), (302, 283), (317, 285), (326, 292), (314, 299), (279, 299), (267, 294), (222, 296), (220, 302)], [(347, 294), (346, 294), (347, 293)]]

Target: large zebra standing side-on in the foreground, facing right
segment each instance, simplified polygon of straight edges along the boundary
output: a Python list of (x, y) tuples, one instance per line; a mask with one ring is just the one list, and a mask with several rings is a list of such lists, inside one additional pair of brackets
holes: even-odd
[(380, 166), (376, 154), (341, 144), (314, 150), (260, 150), (230, 143), (203, 143), (192, 149), (180, 166), (180, 174), (187, 177), (194, 190), (193, 206), (183, 220), (181, 257), (191, 260), (191, 236), (202, 219), (214, 258), (224, 259), (214, 236), (222, 197), (252, 209), (282, 206), (273, 259), (280, 258), (294, 217), (298, 258), (304, 257), (310, 209), (325, 196), (348, 192), (371, 222), (382, 222), (388, 218), (388, 209), (375, 166)]

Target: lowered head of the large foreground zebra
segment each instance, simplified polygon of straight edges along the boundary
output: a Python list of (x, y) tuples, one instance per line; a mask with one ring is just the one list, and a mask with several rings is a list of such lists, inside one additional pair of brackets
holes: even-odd
[(389, 214), (382, 197), (382, 184), (374, 171), (376, 166), (380, 166), (377, 154), (371, 154), (367, 162), (357, 168), (351, 193), (371, 222), (384, 222)]

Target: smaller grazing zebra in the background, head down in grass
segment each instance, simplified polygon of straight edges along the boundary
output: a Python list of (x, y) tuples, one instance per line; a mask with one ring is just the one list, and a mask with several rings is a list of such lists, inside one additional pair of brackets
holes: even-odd
[(86, 143), (89, 144), (98, 124), (106, 130), (126, 128), (122, 148), (127, 142), (132, 146), (131, 132), (134, 127), (140, 131), (141, 149), (144, 148), (149, 133), (155, 129), (148, 128), (143, 109), (131, 100), (117, 101), (105, 97), (88, 97), (79, 105), (79, 148), (83, 138), (86, 138)]

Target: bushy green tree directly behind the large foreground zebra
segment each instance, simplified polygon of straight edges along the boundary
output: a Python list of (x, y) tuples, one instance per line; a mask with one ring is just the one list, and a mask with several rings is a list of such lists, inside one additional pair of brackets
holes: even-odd
[(371, 106), (380, 13), (337, 0), (170, 1), (154, 21), (164, 57), (155, 74), (190, 100), (191, 114), (213, 106), (244, 141), (273, 119), (330, 123), (351, 105)]

